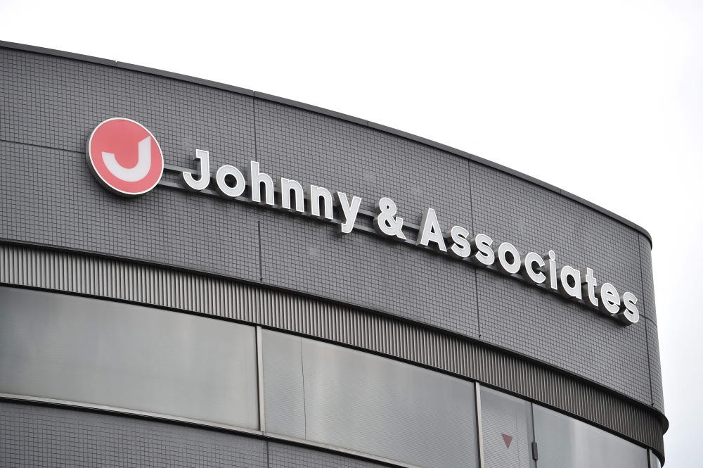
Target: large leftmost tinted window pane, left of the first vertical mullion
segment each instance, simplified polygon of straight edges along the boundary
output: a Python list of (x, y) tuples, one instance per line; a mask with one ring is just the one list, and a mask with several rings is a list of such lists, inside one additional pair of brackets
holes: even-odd
[(0, 287), (0, 393), (258, 429), (254, 327)]

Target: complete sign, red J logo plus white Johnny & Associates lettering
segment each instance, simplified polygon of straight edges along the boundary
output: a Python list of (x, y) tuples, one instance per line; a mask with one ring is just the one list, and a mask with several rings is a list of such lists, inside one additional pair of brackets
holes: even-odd
[[(153, 189), (164, 170), (161, 148), (146, 128), (128, 119), (110, 119), (102, 122), (91, 134), (86, 148), (89, 167), (98, 182), (121, 196), (136, 196)], [(338, 224), (340, 235), (349, 234), (361, 213), (361, 197), (347, 196), (341, 191), (329, 191), (323, 186), (308, 184), (286, 177), (274, 181), (262, 172), (257, 161), (250, 161), (245, 172), (233, 165), (217, 167), (214, 176), (209, 163), (209, 152), (196, 149), (193, 160), (196, 171), (180, 171), (183, 188), (193, 192), (207, 192), (214, 185), (223, 198), (257, 203), (290, 213), (298, 213)], [(245, 196), (245, 192), (248, 196)], [(278, 198), (278, 200), (276, 200)], [(557, 267), (554, 251), (547, 253), (520, 253), (509, 242), (495, 244), (486, 234), (473, 236), (461, 226), (443, 232), (434, 209), (423, 213), (417, 239), (406, 237), (404, 220), (398, 215), (396, 203), (388, 197), (375, 202), (373, 232), (387, 239), (432, 248), (456, 260), (465, 260), (478, 267), (496, 270), (501, 274), (558, 293), (603, 315), (631, 325), (639, 320), (637, 298), (631, 292), (619, 293), (608, 282), (595, 278), (591, 268), (576, 269), (565, 265)], [(335, 219), (337, 208), (340, 219)]]

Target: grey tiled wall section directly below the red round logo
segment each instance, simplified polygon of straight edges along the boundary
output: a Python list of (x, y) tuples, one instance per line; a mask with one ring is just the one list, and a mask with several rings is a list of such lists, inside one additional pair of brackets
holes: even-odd
[(82, 153), (6, 141), (0, 172), (4, 239), (259, 279), (257, 208), (161, 188), (118, 198)]

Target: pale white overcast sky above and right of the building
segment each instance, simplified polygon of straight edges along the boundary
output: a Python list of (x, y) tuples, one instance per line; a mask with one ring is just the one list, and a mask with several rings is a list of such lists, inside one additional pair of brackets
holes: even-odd
[(0, 39), (373, 120), (645, 227), (667, 464), (702, 464), (703, 1), (0, 0)]

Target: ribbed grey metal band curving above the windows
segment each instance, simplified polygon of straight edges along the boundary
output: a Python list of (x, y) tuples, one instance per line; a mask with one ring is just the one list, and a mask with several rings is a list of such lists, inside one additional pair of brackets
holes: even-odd
[(218, 315), (373, 350), (517, 393), (664, 453), (662, 421), (642, 405), (501, 350), (343, 305), (166, 268), (5, 244), (0, 245), (0, 283)]

